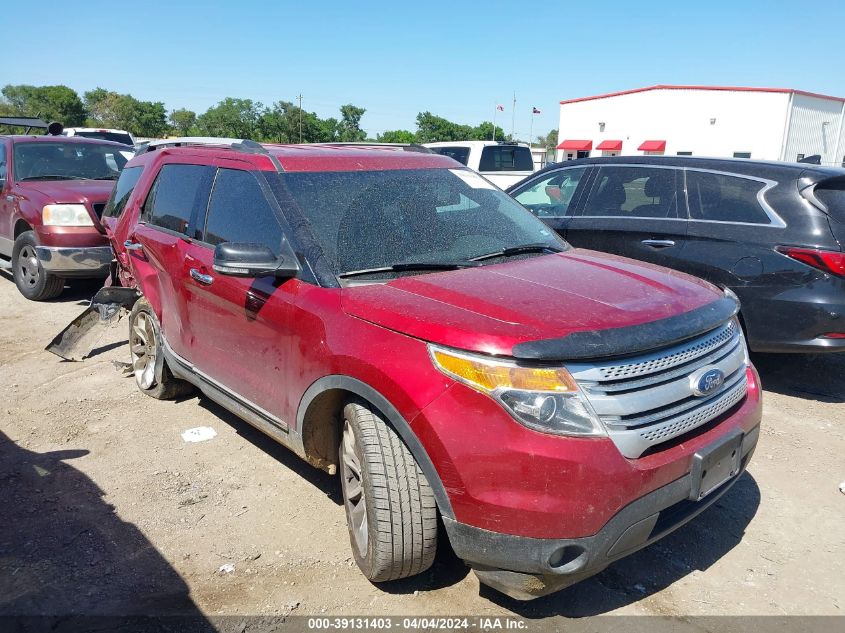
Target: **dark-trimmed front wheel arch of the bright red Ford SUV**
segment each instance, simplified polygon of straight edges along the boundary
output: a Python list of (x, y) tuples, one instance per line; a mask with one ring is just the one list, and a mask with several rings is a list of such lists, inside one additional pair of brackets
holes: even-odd
[(302, 437), (306, 460), (324, 469), (336, 462), (335, 453), (340, 444), (340, 415), (344, 404), (355, 397), (366, 400), (384, 415), (428, 479), (440, 514), (453, 519), (452, 504), (440, 475), (411, 425), (379, 391), (357, 378), (342, 374), (324, 376), (303, 394), (296, 413), (296, 428)]

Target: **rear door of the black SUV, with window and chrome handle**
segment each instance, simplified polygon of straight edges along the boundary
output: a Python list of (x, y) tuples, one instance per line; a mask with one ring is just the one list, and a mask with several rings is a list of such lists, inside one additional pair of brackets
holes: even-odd
[(590, 180), (566, 234), (573, 246), (680, 266), (687, 215), (678, 169), (602, 164)]

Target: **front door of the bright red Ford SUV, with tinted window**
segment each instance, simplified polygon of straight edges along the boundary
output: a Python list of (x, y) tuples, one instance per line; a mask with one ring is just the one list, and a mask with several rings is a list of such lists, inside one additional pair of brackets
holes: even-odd
[(246, 400), (284, 428), (285, 372), (293, 329), (293, 293), (274, 277), (241, 278), (214, 270), (214, 247), (259, 243), (279, 253), (280, 210), (263, 177), (221, 159), (198, 238), (182, 267), (191, 331), (189, 358), (218, 387)]

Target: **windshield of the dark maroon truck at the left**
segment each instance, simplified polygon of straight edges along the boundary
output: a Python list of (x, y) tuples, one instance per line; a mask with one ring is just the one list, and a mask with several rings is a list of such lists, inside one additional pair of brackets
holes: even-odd
[(131, 153), (116, 145), (15, 143), (15, 180), (116, 180), (127, 155)]

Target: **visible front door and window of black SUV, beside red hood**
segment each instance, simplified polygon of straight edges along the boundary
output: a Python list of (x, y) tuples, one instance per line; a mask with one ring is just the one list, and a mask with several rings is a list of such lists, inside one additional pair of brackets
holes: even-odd
[(582, 165), (548, 171), (514, 189), (510, 195), (565, 238), (572, 211), (586, 188), (589, 169)]

